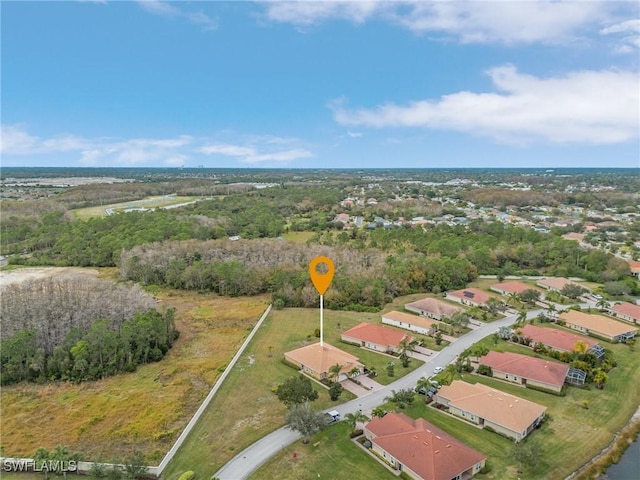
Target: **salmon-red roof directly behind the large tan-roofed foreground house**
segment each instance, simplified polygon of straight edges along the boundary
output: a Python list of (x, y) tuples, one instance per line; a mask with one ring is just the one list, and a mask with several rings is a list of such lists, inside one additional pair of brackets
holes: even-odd
[(536, 382), (562, 387), (569, 372), (566, 363), (550, 362), (541, 358), (511, 352), (489, 352), (480, 358), (480, 363), (494, 371), (517, 375)]

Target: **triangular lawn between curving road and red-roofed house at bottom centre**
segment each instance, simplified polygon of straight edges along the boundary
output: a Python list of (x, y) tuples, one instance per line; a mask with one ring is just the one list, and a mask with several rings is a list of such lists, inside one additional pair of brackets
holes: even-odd
[[(261, 480), (300, 480), (330, 478), (335, 480), (397, 478), (349, 439), (349, 426), (333, 425), (311, 437), (308, 444), (293, 443), (264, 464), (249, 478)], [(296, 458), (293, 458), (293, 453)]]

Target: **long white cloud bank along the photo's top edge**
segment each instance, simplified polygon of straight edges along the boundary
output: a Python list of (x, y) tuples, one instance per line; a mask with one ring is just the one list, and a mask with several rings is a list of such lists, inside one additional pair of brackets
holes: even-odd
[(462, 43), (564, 43), (597, 31), (624, 3), (606, 1), (296, 1), (263, 2), (275, 22), (308, 27), (343, 19), (384, 19), (419, 34)]

